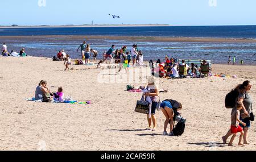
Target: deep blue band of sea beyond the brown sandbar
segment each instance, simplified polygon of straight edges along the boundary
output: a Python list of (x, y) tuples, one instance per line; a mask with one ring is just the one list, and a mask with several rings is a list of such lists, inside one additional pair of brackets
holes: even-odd
[(167, 26), (167, 27), (78, 27), (78, 28), (6, 28), (0, 36), (30, 35), (118, 35), (210, 38), (253, 38), (256, 26)]

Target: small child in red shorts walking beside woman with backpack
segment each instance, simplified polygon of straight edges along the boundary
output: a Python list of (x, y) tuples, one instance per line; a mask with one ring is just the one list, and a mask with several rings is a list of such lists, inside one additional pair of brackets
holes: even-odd
[(241, 132), (240, 138), (239, 138), (239, 146), (244, 146), (244, 144), (242, 144), (242, 139), (243, 139), (243, 128), (239, 125), (239, 123), (241, 123), (243, 126), (246, 126), (246, 123), (243, 123), (242, 121), (240, 121), (240, 110), (242, 110), (242, 102), (237, 102), (237, 110), (234, 111), (231, 115), (231, 127), (230, 127), (230, 131), (233, 134), (232, 138), (230, 139), (229, 145), (228, 146), (233, 146), (233, 141), (234, 138), (236, 138), (237, 132)]

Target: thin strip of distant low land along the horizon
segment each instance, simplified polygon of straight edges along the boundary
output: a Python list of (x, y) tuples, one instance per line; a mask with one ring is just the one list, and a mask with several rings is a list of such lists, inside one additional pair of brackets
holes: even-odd
[(69, 27), (163, 27), (169, 24), (95, 24), (95, 25), (63, 25), (63, 26), (0, 26), (0, 28), (69, 28)]

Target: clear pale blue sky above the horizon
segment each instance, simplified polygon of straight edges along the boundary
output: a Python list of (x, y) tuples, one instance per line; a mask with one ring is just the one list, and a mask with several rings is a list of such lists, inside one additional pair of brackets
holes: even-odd
[[(0, 25), (90, 24), (92, 20), (94, 24), (256, 25), (255, 0), (45, 0), (45, 7), (39, 7), (38, 1), (44, 0), (1, 1)], [(217, 6), (209, 1), (217, 1)]]

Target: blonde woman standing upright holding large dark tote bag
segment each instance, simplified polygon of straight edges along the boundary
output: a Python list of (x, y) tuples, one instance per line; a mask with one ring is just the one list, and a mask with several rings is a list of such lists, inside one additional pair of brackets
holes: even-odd
[(144, 95), (146, 97), (150, 97), (152, 101), (151, 105), (151, 118), (150, 115), (147, 114), (147, 121), (148, 121), (148, 128), (147, 130), (151, 130), (151, 123), (153, 122), (153, 129), (152, 131), (155, 131), (156, 129), (156, 118), (155, 118), (155, 110), (156, 106), (158, 105), (156, 97), (159, 96), (159, 90), (158, 90), (158, 85), (156, 85), (155, 77), (150, 77), (148, 79), (148, 85), (147, 85), (147, 90), (149, 91), (148, 93), (145, 93)]

